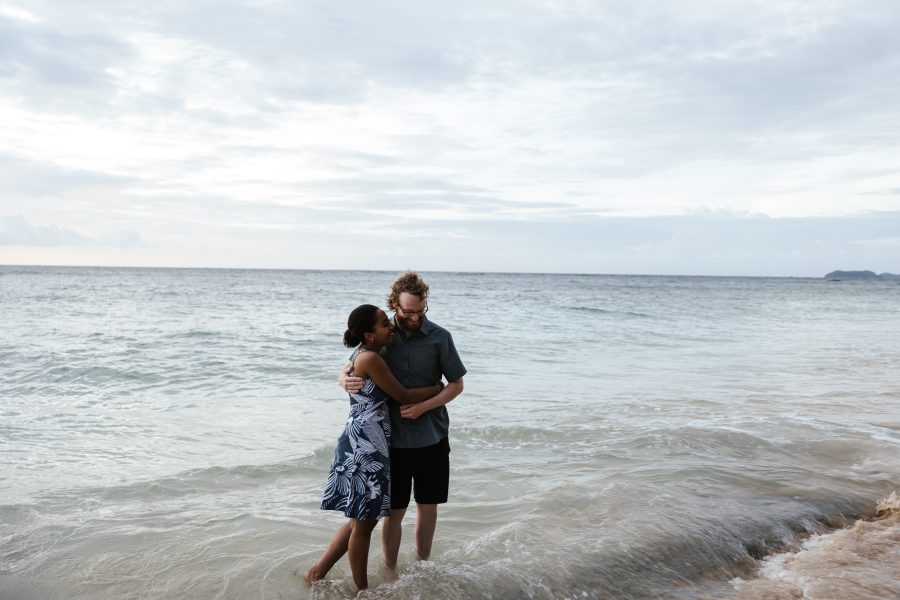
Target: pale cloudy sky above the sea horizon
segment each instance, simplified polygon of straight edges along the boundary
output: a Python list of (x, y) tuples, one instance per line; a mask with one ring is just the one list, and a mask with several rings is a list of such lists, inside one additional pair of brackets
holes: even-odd
[(0, 264), (900, 272), (895, 0), (0, 0)]

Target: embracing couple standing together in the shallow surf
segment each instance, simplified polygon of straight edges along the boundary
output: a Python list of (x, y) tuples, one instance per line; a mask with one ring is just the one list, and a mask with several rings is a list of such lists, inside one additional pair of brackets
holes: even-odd
[[(325, 577), (346, 553), (353, 582), (368, 587), (372, 530), (380, 518), (385, 565), (394, 570), (410, 494), (416, 500), (416, 552), (431, 554), (437, 507), (447, 501), (449, 417), (444, 406), (463, 390), (463, 366), (450, 333), (428, 320), (428, 285), (402, 273), (387, 298), (393, 319), (371, 304), (347, 320), (344, 344), (354, 348), (341, 373), (350, 416), (338, 439), (321, 508), (348, 518), (306, 572)], [(444, 386), (441, 378), (447, 380)]]

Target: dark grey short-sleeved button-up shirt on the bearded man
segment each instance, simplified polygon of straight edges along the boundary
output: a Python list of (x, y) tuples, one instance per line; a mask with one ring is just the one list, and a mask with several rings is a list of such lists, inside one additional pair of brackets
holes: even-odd
[[(404, 387), (435, 385), (441, 376), (456, 381), (466, 374), (450, 332), (422, 317), (422, 325), (411, 335), (406, 335), (393, 317), (394, 336), (384, 351), (384, 359), (394, 377)], [(450, 415), (446, 406), (430, 410), (418, 419), (400, 416), (400, 405), (390, 403), (391, 446), (395, 448), (423, 448), (447, 437)]]

